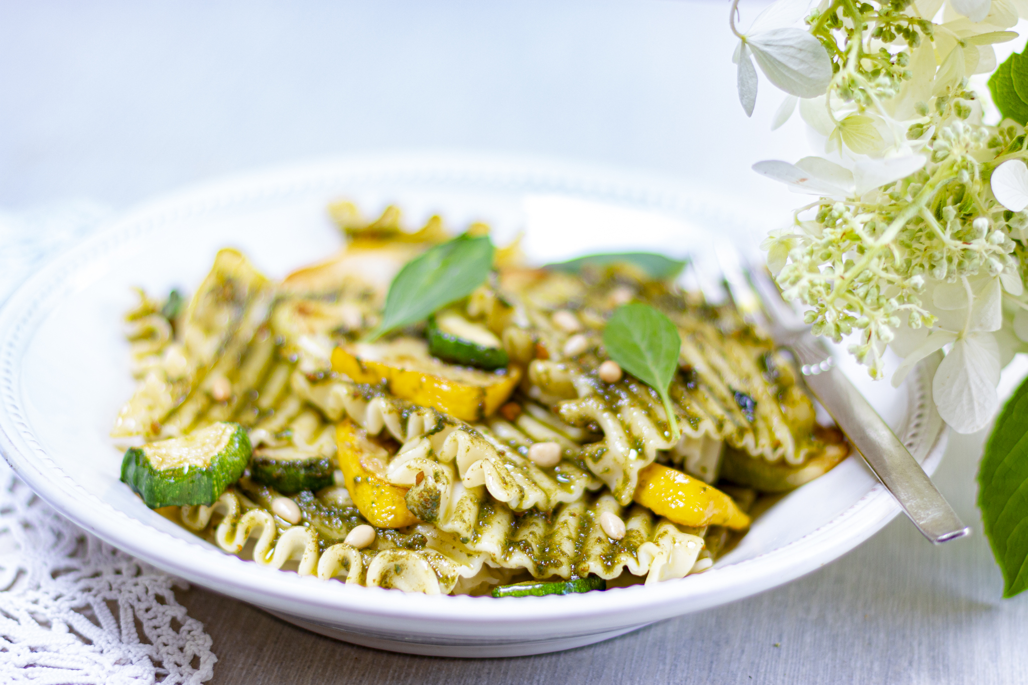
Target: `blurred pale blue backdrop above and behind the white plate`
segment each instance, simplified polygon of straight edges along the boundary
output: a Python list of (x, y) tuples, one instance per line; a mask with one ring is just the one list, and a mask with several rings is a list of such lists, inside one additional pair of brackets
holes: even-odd
[(748, 165), (794, 156), (788, 136), (766, 136), (781, 96), (762, 84), (746, 119), (727, 14), (670, 0), (5, 0), (0, 203), (121, 205), (254, 165), (412, 148), (774, 197)]

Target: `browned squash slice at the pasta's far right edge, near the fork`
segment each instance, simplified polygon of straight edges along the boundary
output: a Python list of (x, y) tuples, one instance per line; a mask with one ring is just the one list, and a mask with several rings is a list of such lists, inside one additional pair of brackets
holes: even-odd
[(842, 433), (833, 430), (818, 431), (824, 448), (798, 466), (784, 461), (768, 462), (744, 452), (725, 450), (721, 478), (761, 492), (788, 492), (815, 478), (828, 473), (849, 455), (849, 445)]

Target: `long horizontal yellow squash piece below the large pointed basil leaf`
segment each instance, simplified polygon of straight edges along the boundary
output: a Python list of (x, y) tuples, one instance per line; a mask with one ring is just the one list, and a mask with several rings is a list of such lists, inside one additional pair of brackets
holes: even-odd
[(358, 383), (384, 381), (395, 396), (464, 421), (480, 421), (495, 412), (521, 379), (518, 367), (489, 373), (443, 364), (429, 354), (424, 340), (414, 338), (336, 347), (332, 369)]

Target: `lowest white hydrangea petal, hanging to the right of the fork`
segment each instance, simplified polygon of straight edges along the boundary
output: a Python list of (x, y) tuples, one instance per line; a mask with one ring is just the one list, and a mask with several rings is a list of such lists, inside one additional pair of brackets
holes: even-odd
[(984, 428), (999, 407), (999, 347), (991, 333), (972, 333), (955, 343), (939, 365), (931, 396), (939, 414), (960, 433)]

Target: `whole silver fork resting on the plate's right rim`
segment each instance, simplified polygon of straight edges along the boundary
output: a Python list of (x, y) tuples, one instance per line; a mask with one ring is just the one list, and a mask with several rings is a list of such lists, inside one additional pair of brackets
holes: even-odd
[(762, 267), (740, 265), (734, 251), (718, 250), (718, 261), (739, 312), (765, 327), (777, 344), (793, 352), (807, 387), (921, 534), (935, 544), (968, 535), (970, 529), (961, 523), (914, 456), (836, 367), (828, 345), (811, 334), (796, 310), (782, 300), (770, 274)]

